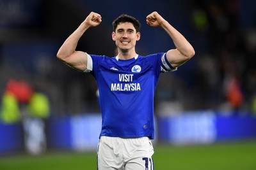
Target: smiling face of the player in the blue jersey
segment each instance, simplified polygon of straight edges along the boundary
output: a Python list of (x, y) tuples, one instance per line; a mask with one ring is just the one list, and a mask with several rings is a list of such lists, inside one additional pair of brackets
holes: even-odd
[(135, 50), (136, 41), (140, 39), (140, 32), (136, 32), (131, 22), (124, 22), (118, 24), (116, 31), (112, 32), (112, 39), (122, 51)]

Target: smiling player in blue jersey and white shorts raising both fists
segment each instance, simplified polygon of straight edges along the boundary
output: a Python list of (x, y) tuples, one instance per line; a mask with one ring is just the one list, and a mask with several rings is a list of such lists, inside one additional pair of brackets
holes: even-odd
[(102, 130), (98, 146), (98, 169), (154, 169), (154, 90), (159, 74), (174, 71), (195, 55), (189, 42), (154, 11), (147, 24), (160, 26), (172, 38), (176, 49), (142, 57), (135, 50), (140, 40), (140, 22), (120, 15), (113, 22), (112, 39), (118, 55), (92, 55), (76, 51), (90, 27), (100, 24), (101, 16), (91, 12), (63, 43), (57, 57), (68, 66), (91, 73), (99, 87)]

